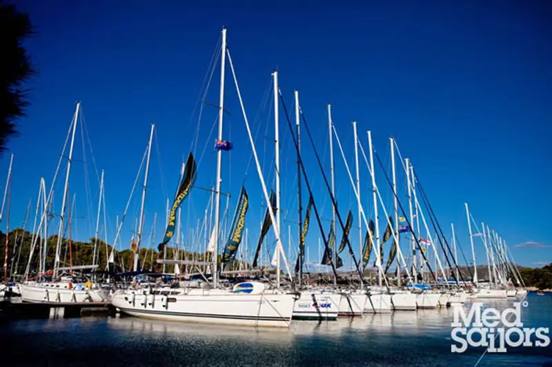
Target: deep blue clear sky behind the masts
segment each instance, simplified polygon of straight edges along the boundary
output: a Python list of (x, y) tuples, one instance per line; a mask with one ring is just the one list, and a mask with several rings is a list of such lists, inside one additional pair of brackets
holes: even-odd
[[(552, 261), (548, 213), (552, 202), (552, 25), (547, 21), (551, 7), (544, 1), (393, 1), (341, 6), (329, 1), (262, 6), (253, 1), (210, 1), (207, 6), (189, 1), (155, 5), (150, 1), (132, 1), (132, 5), (94, 1), (92, 5), (89, 1), (20, 0), (17, 4), (30, 14), (37, 30), (26, 47), (38, 74), (29, 83), (32, 105), (28, 116), (19, 121), (21, 136), (9, 146), (14, 153), (12, 226), (21, 225), (30, 198), (34, 208), (40, 177), (51, 184), (75, 101), (81, 101), (95, 164), (106, 174), (110, 242), (115, 236), (115, 218), (122, 216), (144, 154), (150, 124), (156, 124), (144, 236), (147, 239), (157, 212), (157, 244), (162, 238), (166, 196), (172, 196), (181, 162), (192, 149), (198, 124), (196, 101), (201, 100), (201, 85), (225, 25), (269, 186), (274, 180), (270, 74), (277, 69), (290, 113), (293, 90), (299, 90), (300, 105), (326, 168), (326, 103), (331, 103), (353, 174), (352, 120), (358, 123), (366, 151), (366, 130), (372, 131), (375, 149), (387, 168), (388, 137), (395, 136), (402, 155), (413, 160), (449, 238), (450, 223), (455, 223), (466, 255), (469, 237), (464, 201), (469, 202), (477, 222), (488, 223), (506, 239), (517, 262), (542, 266)], [(216, 105), (218, 89), (217, 68), (206, 101)], [(237, 198), (245, 183), (253, 247), (264, 199), (254, 163), (248, 166), (251, 149), (229, 70), (225, 107), (224, 136), (233, 141), (235, 149), (224, 154), (222, 191)], [(202, 187), (215, 182), (215, 136), (210, 131), (216, 114), (214, 107), (204, 105), (196, 151), (197, 185)], [(297, 243), (297, 224), (293, 224), (297, 222), (296, 167), (283, 112), (280, 122), (282, 205), (289, 212), (283, 218), (282, 234), (287, 247), (288, 225)], [(87, 205), (79, 134), (70, 191), (77, 195), (73, 233), (84, 239), (93, 234), (99, 185), (87, 146)], [(86, 145), (88, 137), (84, 136)], [(306, 136), (302, 148), (327, 231), (331, 205)], [(201, 151), (205, 153), (199, 160)], [(356, 200), (337, 147), (335, 162), (342, 216), (351, 207), (356, 226)], [(9, 154), (5, 154), (0, 162), (5, 173), (8, 163)], [(381, 171), (376, 173), (386, 209), (391, 211), (391, 193)], [(59, 193), (63, 176), (62, 171), (56, 184)], [(406, 208), (404, 174), (399, 172), (397, 178)], [(363, 162), (361, 181), (362, 202), (371, 213), (370, 178)], [(58, 213), (60, 196), (55, 196)], [(193, 191), (182, 212), (185, 233), (203, 218), (208, 200), (206, 191)], [(304, 207), (307, 200), (304, 194)], [(225, 205), (223, 200), (223, 209)], [(125, 247), (138, 213), (139, 192), (121, 233)], [(383, 221), (381, 227), (383, 233)], [(312, 220), (307, 238), (312, 261), (317, 260), (318, 233)], [(352, 233), (357, 249), (357, 229)], [(481, 244), (477, 246), (477, 258), (482, 259), (484, 250)]]

